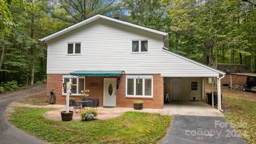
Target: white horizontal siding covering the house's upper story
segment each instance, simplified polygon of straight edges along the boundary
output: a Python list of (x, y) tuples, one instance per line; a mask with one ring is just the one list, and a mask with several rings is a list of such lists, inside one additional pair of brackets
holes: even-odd
[[(148, 39), (148, 52), (131, 54), (132, 42)], [(81, 54), (67, 57), (67, 43), (81, 42)], [(75, 70), (124, 70), (125, 74), (210, 77), (219, 74), (163, 50), (163, 36), (99, 19), (47, 42), (47, 74)]]

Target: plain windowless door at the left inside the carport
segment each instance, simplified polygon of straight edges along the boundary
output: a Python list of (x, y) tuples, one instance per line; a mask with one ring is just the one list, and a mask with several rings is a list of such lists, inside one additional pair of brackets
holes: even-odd
[(180, 100), (180, 79), (171, 79), (171, 100)]

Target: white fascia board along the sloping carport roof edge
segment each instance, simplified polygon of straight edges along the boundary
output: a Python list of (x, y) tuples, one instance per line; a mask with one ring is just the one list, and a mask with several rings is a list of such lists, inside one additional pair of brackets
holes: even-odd
[(189, 61), (189, 62), (195, 63), (196, 65), (199, 65), (199, 66), (202, 66), (202, 67), (207, 68), (207, 69), (209, 69), (209, 70), (212, 70), (212, 71), (214, 71), (215, 73), (218, 73), (218, 74), (221, 74), (221, 75), (225, 75), (225, 74), (226, 74), (226, 73), (224, 73), (223, 71), (220, 71), (220, 70), (218, 70), (218, 69), (211, 68), (211, 67), (206, 66), (206, 65), (204, 65), (204, 64), (202, 64), (202, 63), (200, 63), (200, 62), (197, 62), (197, 61), (195, 61), (195, 60), (191, 60), (191, 59), (189, 59), (189, 58), (183, 57), (182, 55), (179, 55), (179, 54), (177, 54), (177, 53), (171, 52), (171, 51), (167, 50), (166, 48), (163, 48), (163, 51), (164, 51), (164, 52), (167, 52), (167, 53), (170, 53), (170, 54), (172, 54), (172, 55), (175, 55), (176, 57), (179, 57), (179, 58), (181, 58), (181, 59), (184, 59), (184, 60), (187, 60), (187, 61)]

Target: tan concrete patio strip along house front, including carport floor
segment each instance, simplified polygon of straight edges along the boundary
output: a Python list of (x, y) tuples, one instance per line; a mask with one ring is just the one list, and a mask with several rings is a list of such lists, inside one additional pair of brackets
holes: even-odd
[[(47, 111), (44, 117), (61, 121), (60, 111), (65, 110), (65, 105), (47, 105), (36, 106), (26, 103), (13, 102), (10, 106), (14, 107), (38, 107), (38, 108), (52, 108), (53, 110)], [(71, 107), (71, 110), (73, 108)], [(122, 115), (126, 111), (138, 111), (143, 113), (156, 113), (160, 115), (189, 115), (189, 116), (223, 116), (218, 110), (212, 108), (203, 102), (189, 101), (189, 102), (171, 102), (164, 105), (163, 109), (149, 109), (143, 108), (142, 110), (134, 110), (133, 108), (104, 108), (98, 107), (97, 119), (109, 119)], [(74, 113), (73, 121), (81, 121), (80, 113)]]

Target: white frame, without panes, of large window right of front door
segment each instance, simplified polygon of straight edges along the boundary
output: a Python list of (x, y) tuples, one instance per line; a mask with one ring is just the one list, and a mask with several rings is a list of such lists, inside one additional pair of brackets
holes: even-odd
[[(133, 79), (133, 95), (128, 95), (128, 79)], [(142, 79), (142, 95), (136, 95), (136, 79)], [(145, 95), (145, 79), (151, 79), (151, 95)], [(125, 97), (153, 98), (153, 75), (126, 75)]]

